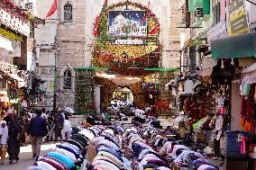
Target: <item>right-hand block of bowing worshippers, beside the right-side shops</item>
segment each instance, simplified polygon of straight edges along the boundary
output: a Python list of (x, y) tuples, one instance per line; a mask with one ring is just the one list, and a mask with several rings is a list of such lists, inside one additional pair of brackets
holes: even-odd
[(126, 129), (123, 150), (132, 159), (133, 170), (217, 170), (206, 157), (183, 145), (183, 141), (170, 141), (160, 130)]

